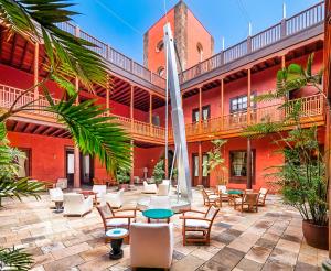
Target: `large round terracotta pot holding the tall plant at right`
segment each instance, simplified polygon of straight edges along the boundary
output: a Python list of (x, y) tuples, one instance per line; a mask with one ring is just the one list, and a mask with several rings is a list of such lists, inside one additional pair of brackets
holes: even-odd
[(318, 226), (308, 220), (302, 221), (302, 231), (309, 246), (318, 249), (329, 249), (329, 228)]

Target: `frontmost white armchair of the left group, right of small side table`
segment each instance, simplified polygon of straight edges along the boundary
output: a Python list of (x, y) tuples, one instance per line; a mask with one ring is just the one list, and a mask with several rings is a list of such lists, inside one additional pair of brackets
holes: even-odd
[(84, 216), (93, 209), (93, 197), (84, 198), (84, 195), (67, 193), (63, 195), (65, 216)]

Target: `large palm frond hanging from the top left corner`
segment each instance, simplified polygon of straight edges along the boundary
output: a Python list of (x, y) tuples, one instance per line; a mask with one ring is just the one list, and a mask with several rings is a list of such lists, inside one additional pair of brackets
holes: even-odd
[(1, 0), (0, 18), (9, 34), (19, 33), (43, 41), (47, 55), (45, 67), (63, 80), (77, 77), (88, 89), (93, 84), (106, 85), (107, 66), (95, 45), (61, 30), (57, 24), (77, 14), (66, 0)]

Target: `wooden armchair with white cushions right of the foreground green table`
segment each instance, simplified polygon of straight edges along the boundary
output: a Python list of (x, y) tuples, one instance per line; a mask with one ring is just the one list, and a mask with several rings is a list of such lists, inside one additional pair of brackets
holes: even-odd
[[(205, 213), (200, 210), (183, 212), (183, 215), (180, 217), (180, 219), (183, 220), (183, 245), (185, 246), (190, 242), (210, 245), (211, 229), (218, 212), (220, 209), (212, 205)], [(186, 215), (188, 213), (195, 213), (200, 214), (201, 216), (190, 216)], [(202, 235), (189, 236), (186, 232), (201, 232)]]

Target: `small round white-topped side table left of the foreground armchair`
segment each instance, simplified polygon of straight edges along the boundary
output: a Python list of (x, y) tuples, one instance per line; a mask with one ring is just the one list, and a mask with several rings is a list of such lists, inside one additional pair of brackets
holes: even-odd
[(106, 231), (106, 236), (110, 238), (111, 251), (109, 252), (109, 259), (117, 260), (122, 258), (122, 239), (129, 235), (129, 231), (124, 228), (115, 228)]

